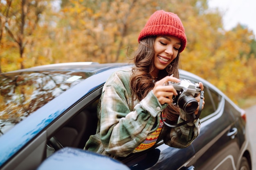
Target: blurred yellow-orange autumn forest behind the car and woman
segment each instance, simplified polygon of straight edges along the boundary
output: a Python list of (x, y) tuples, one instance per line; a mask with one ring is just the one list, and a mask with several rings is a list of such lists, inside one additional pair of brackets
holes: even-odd
[(223, 14), (209, 9), (207, 0), (0, 0), (0, 72), (77, 61), (132, 62), (127, 53), (160, 9), (176, 13), (185, 27), (183, 70), (238, 105), (256, 98), (255, 35), (240, 24), (226, 31)]

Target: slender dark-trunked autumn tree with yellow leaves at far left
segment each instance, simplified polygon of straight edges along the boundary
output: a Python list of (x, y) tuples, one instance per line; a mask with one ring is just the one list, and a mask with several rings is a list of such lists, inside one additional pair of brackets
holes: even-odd
[(20, 68), (24, 68), (24, 52), (37, 28), (46, 0), (5, 0), (4, 26), (9, 37), (17, 44), (20, 55)]

